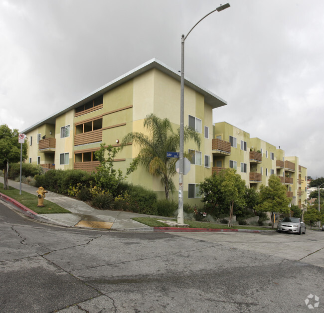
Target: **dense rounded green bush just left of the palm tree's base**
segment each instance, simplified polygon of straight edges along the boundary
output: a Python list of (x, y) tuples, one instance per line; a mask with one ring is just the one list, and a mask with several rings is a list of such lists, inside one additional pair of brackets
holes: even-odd
[(130, 210), (136, 213), (157, 215), (157, 194), (139, 185), (129, 185)]

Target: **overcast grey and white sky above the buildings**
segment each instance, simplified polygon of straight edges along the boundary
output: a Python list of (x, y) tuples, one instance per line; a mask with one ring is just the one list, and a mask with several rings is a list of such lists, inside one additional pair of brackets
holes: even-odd
[[(181, 34), (226, 2), (0, 0), (0, 123), (19, 131), (142, 63), (180, 68)], [(226, 121), (324, 176), (324, 1), (229, 0), (185, 41), (185, 76)]]

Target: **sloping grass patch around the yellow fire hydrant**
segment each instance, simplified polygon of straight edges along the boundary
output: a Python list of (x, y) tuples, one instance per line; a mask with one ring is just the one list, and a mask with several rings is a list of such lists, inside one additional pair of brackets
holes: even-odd
[(62, 208), (61, 206), (47, 201), (46, 195), (44, 199), (44, 207), (37, 207), (38, 198), (37, 195), (33, 195), (31, 193), (25, 192), (21, 190), (21, 195), (19, 194), (19, 190), (12, 188), (9, 186), (8, 190), (3, 189), (3, 184), (0, 183), (0, 192), (9, 196), (12, 199), (15, 199), (19, 203), (23, 204), (27, 208), (33, 210), (38, 214), (48, 214), (48, 213), (71, 213), (70, 211)]

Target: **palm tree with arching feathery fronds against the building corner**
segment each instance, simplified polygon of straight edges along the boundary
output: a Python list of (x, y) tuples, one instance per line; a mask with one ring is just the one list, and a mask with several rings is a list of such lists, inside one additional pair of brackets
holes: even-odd
[[(144, 120), (144, 127), (149, 130), (150, 135), (132, 132), (127, 134), (121, 144), (121, 148), (129, 143), (140, 147), (139, 162), (150, 174), (160, 176), (161, 183), (164, 185), (165, 198), (169, 198), (169, 191), (175, 189), (172, 176), (175, 174), (176, 158), (166, 157), (166, 153), (179, 150), (180, 130), (173, 132), (170, 121), (161, 119), (151, 113)], [(192, 128), (184, 128), (184, 142), (188, 139), (193, 140), (198, 149), (200, 148), (200, 136)], [(187, 154), (186, 154), (187, 155)]]

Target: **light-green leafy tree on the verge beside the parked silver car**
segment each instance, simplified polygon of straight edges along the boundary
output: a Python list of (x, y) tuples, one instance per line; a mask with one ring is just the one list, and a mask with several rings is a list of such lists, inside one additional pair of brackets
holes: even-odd
[(271, 224), (274, 229), (274, 213), (289, 214), (289, 203), (291, 198), (287, 197), (286, 187), (276, 175), (271, 175), (268, 180), (268, 186), (260, 187), (260, 204), (255, 209), (257, 211), (271, 212)]

